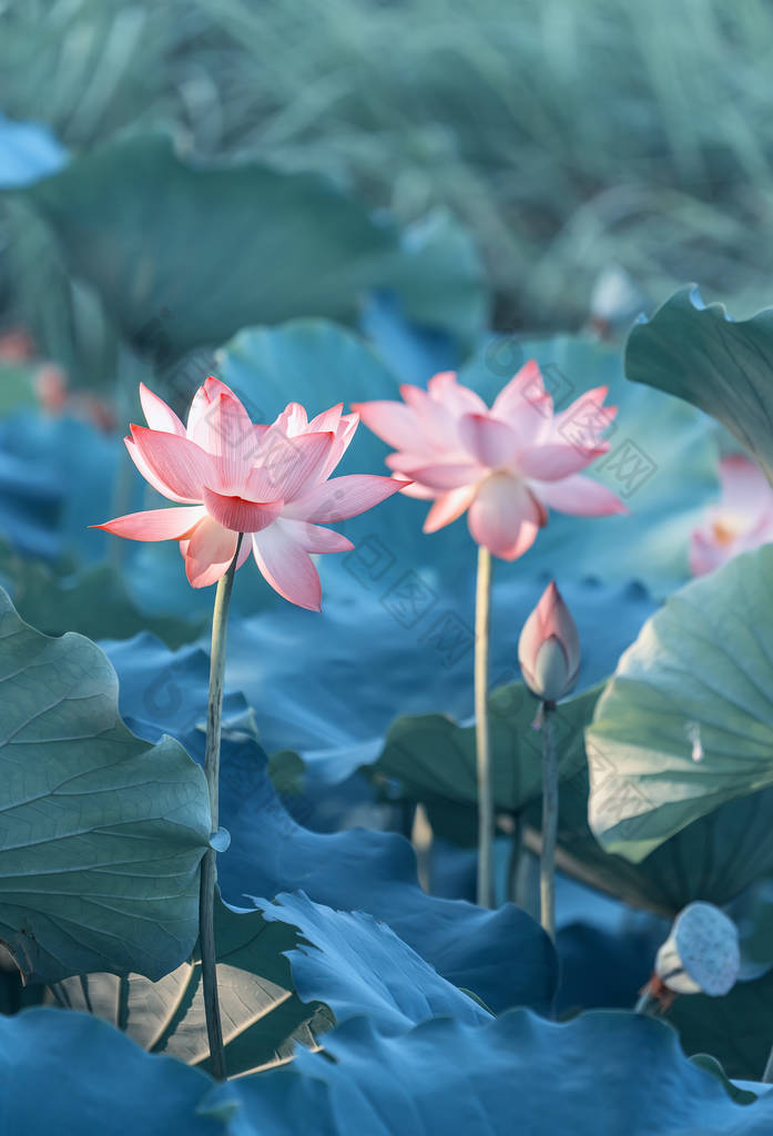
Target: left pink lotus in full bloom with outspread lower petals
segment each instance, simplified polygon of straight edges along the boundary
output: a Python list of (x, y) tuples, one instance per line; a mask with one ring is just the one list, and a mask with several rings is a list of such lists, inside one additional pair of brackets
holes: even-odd
[(134, 541), (179, 541), (193, 587), (224, 576), (238, 534), (247, 534), (237, 568), (252, 551), (279, 595), (319, 611), (321, 587), (310, 553), (353, 548), (322, 525), (356, 517), (403, 487), (367, 474), (330, 478), (358, 415), (342, 415), (339, 403), (308, 421), (303, 407), (291, 402), (272, 425), (254, 425), (217, 378), (196, 392), (187, 426), (144, 385), (140, 398), (150, 428), (132, 426), (126, 446), (142, 476), (178, 507), (93, 527)]

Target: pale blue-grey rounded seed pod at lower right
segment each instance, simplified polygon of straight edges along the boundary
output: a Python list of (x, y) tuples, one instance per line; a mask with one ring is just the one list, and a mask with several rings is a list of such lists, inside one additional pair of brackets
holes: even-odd
[(688, 903), (657, 952), (655, 974), (675, 994), (719, 997), (738, 978), (738, 928), (713, 903)]

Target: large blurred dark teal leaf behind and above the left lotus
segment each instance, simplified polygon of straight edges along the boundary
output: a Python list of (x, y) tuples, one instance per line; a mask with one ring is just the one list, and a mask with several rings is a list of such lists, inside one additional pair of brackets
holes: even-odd
[[(460, 229), (417, 232), (404, 247), (390, 224), (316, 175), (203, 167), (182, 160), (168, 137), (135, 136), (26, 193), (73, 275), (160, 362), (251, 324), (348, 318), (373, 287), (395, 287), (430, 323), (456, 319), (460, 306), (465, 332), (482, 321), (480, 264)], [(421, 302), (434, 289), (448, 301), (443, 309)]]

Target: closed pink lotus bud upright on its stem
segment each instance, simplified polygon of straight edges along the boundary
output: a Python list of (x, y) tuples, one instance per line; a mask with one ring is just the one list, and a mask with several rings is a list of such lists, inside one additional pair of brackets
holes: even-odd
[(523, 680), (544, 702), (569, 694), (580, 669), (580, 638), (555, 580), (547, 585), (518, 643)]

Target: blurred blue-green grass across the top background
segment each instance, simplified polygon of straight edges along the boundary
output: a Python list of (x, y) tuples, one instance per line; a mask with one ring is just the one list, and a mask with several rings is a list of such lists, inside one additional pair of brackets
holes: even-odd
[(736, 315), (773, 268), (766, 0), (6, 0), (3, 109), (79, 150), (170, 126), (472, 226), (501, 326), (581, 323), (614, 261)]

